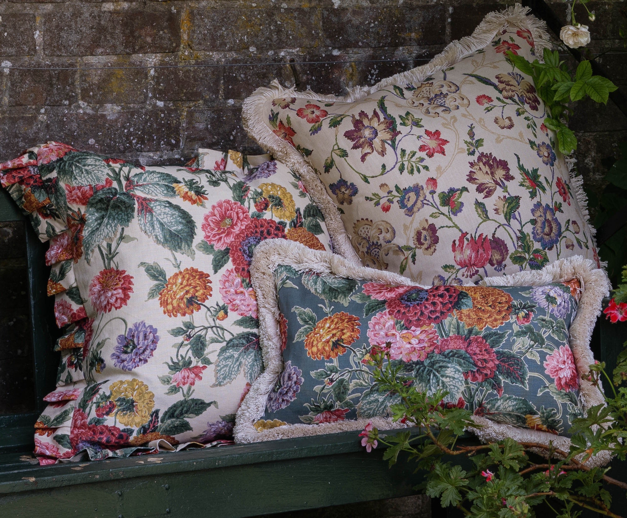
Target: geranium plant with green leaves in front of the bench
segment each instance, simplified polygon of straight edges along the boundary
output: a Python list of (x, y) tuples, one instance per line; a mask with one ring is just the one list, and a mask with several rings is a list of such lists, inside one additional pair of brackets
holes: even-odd
[[(443, 507), (453, 506), (476, 518), (529, 517), (540, 504), (562, 518), (575, 518), (584, 509), (620, 516), (611, 510), (608, 485), (627, 490), (627, 484), (610, 477), (608, 468), (591, 468), (585, 462), (604, 451), (624, 460), (627, 446), (621, 440), (627, 437), (627, 388), (616, 389), (610, 383), (613, 394), (606, 399), (607, 406), (594, 406), (587, 416), (574, 420), (569, 452), (510, 438), (466, 445), (460, 440), (465, 428), (476, 426), (471, 411), (445, 403), (444, 391), (429, 396), (416, 390), (385, 348), (373, 353), (371, 362), (381, 389), (399, 396), (399, 403), (391, 406), (394, 420), (416, 426), (418, 433), (381, 435), (369, 423), (360, 434), (362, 446), (370, 452), (386, 445), (383, 458), (390, 465), (399, 453), (408, 453), (416, 469), (426, 473), (421, 488), (431, 497), (440, 497)], [(591, 366), (594, 384), (601, 383), (602, 376), (609, 381), (604, 367), (602, 363)], [(622, 381), (614, 374), (617, 382)], [(455, 461), (460, 457), (469, 458), (465, 464), (471, 467), (465, 469), (464, 462)]]

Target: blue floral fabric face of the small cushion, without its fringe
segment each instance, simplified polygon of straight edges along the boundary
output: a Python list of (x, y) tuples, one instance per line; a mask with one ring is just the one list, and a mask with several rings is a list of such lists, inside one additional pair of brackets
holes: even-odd
[[(398, 396), (374, 382), (379, 355), (419, 391), (445, 391), (446, 408), (551, 433), (567, 433), (581, 415), (568, 346), (575, 283), (575, 294), (569, 283), (425, 288), (370, 280), (346, 288), (354, 280), (287, 267), (277, 268), (275, 281), (285, 369), (258, 423), (390, 416)], [(343, 290), (348, 299), (340, 299)], [(345, 310), (334, 312), (330, 295)]]

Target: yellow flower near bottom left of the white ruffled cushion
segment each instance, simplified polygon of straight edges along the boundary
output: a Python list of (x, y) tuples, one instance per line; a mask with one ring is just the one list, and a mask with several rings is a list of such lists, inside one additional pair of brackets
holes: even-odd
[(155, 406), (155, 394), (139, 379), (120, 379), (110, 387), (111, 401), (115, 403), (115, 417), (124, 426), (145, 425)]

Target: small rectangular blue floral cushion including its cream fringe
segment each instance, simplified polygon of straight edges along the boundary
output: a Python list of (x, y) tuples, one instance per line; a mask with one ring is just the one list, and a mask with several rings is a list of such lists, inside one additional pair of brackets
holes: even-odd
[(472, 410), (480, 437), (528, 436), (567, 450), (572, 420), (603, 403), (582, 379), (593, 362), (588, 343), (572, 336), (594, 327), (608, 280), (582, 257), (526, 273), (506, 277), (510, 286), (421, 287), (285, 240), (263, 243), (251, 276), (266, 372), (238, 412), (236, 441), (371, 420), (402, 426), (390, 419), (396, 396), (372, 378), (370, 355), (383, 350), (416, 389), (448, 391), (445, 406)]

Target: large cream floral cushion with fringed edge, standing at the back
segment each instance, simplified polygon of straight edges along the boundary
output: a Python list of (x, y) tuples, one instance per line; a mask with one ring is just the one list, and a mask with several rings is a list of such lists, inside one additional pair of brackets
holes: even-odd
[(369, 267), (439, 284), (598, 263), (581, 180), (505, 54), (547, 46), (526, 13), (488, 14), (428, 65), (345, 97), (275, 82), (246, 100), (245, 125), (303, 181), (320, 177)]

